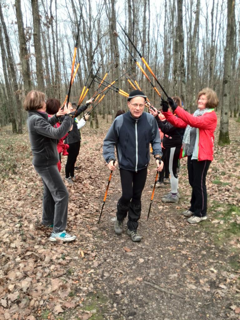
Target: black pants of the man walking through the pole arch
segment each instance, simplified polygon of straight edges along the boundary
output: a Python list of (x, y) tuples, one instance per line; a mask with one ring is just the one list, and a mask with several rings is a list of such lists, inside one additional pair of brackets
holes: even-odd
[(122, 196), (117, 203), (117, 220), (123, 221), (128, 212), (129, 230), (137, 230), (141, 215), (141, 195), (147, 179), (147, 168), (138, 172), (120, 169)]

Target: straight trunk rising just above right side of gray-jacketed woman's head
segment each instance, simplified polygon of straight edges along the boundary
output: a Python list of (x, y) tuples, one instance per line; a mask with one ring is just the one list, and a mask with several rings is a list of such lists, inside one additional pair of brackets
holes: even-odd
[(36, 55), (36, 77), (37, 88), (44, 91), (44, 78), (43, 78), (43, 57), (41, 51), (41, 32), (40, 32), (40, 18), (38, 9), (38, 0), (31, 0), (32, 14), (33, 14), (33, 42)]

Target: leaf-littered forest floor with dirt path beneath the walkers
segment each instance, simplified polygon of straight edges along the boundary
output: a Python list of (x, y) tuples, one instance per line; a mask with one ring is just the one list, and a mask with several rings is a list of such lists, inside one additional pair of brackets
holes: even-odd
[[(190, 196), (185, 160), (180, 202), (162, 203), (161, 194), (168, 187), (157, 189), (147, 221), (150, 185), (155, 179), (154, 165), (149, 166), (140, 243), (126, 235), (126, 225), (121, 236), (113, 230), (121, 194), (119, 172), (114, 173), (97, 223), (109, 175), (101, 155), (105, 130), (96, 135), (87, 127), (83, 132), (81, 169), (75, 184), (68, 186), (68, 231), (78, 238), (65, 245), (50, 243), (51, 231), (39, 227), (42, 183), (31, 166), (27, 135), (4, 132), (7, 143), (1, 164), (7, 174), (1, 179), (0, 197), (0, 319), (238, 319), (236, 125), (231, 122), (236, 141), (230, 147), (217, 147), (211, 164), (207, 221), (189, 225), (180, 215), (188, 208)], [(221, 160), (226, 148), (228, 164)]]

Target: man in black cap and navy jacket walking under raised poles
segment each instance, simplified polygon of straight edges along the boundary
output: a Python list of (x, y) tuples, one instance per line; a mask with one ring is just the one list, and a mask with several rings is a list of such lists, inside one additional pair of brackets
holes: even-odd
[(140, 90), (130, 92), (129, 111), (116, 117), (103, 142), (103, 156), (109, 170), (116, 170), (115, 146), (120, 168), (122, 196), (117, 203), (115, 233), (123, 232), (123, 220), (128, 212), (127, 234), (132, 241), (141, 241), (137, 233), (141, 214), (141, 194), (147, 179), (150, 161), (149, 143), (153, 148), (157, 171), (162, 171), (161, 139), (156, 120), (144, 112), (146, 95)]

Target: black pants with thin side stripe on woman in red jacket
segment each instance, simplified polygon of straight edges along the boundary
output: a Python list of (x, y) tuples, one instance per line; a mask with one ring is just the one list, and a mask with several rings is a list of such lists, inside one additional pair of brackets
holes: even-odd
[(206, 175), (211, 164), (210, 160), (191, 160), (188, 156), (188, 181), (192, 187), (190, 211), (197, 217), (207, 215), (207, 188)]

